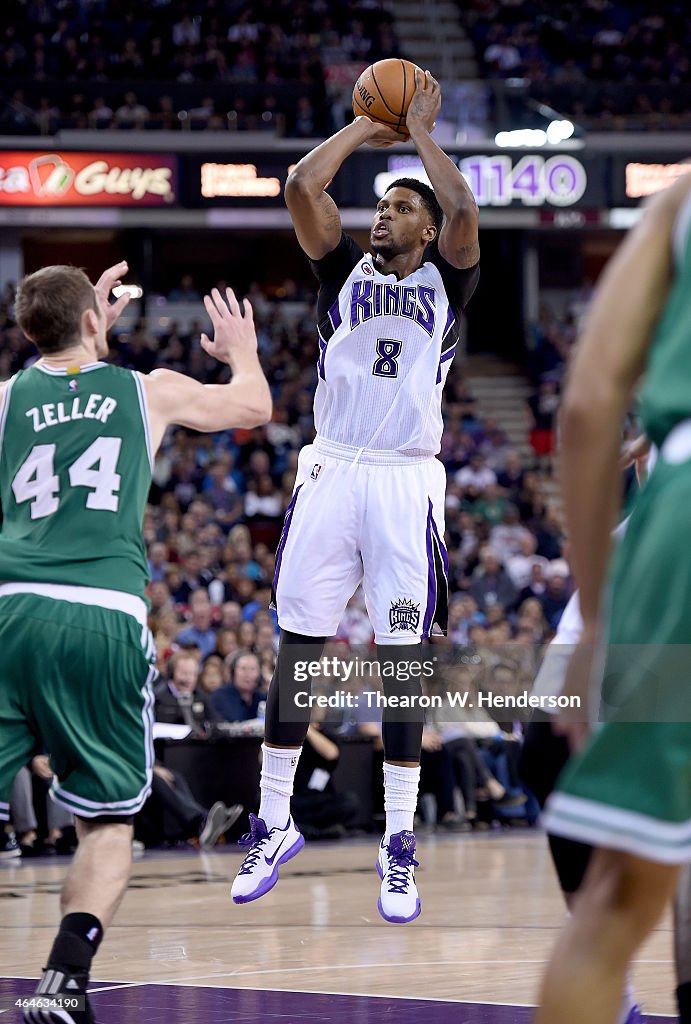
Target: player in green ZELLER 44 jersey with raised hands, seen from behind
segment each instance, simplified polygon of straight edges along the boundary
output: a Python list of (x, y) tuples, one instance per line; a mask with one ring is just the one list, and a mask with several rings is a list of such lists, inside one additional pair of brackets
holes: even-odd
[[(73, 812), (79, 850), (32, 1024), (88, 1024), (91, 961), (130, 872), (132, 817), (150, 790), (154, 641), (146, 627), (141, 522), (166, 428), (252, 427), (270, 416), (249, 304), (205, 300), (233, 371), (204, 386), (101, 361), (121, 263), (94, 288), (75, 267), (45, 267), (17, 293), (19, 327), (41, 358), (0, 385), (0, 821), (17, 769), (45, 750), (51, 796)], [(60, 999), (79, 997), (79, 1009)], [(52, 1007), (52, 1009), (51, 1009)]]

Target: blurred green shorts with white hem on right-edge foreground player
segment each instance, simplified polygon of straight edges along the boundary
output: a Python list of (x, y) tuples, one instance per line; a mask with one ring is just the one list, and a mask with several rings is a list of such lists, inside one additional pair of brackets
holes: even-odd
[(665, 449), (613, 562), (598, 726), (548, 802), (548, 831), (691, 860), (691, 462)]

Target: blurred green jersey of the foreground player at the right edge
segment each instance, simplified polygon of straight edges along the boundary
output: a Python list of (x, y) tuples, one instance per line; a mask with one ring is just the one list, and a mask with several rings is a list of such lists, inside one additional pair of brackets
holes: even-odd
[(661, 444), (676, 424), (691, 419), (691, 196), (674, 232), (675, 282), (648, 356), (641, 393), (646, 433)]

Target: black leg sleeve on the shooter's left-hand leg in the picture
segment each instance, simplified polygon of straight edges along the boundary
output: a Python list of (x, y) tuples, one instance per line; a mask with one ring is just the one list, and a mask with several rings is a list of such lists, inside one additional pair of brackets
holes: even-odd
[[(278, 656), (266, 697), (264, 721), (264, 736), (273, 746), (302, 746), (305, 741), (310, 708), (307, 701), (298, 699), (298, 694), (311, 694), (311, 679), (309, 676), (304, 678), (305, 665), (321, 657), (326, 642), (326, 637), (280, 631)], [(307, 707), (301, 707), (303, 703)]]

